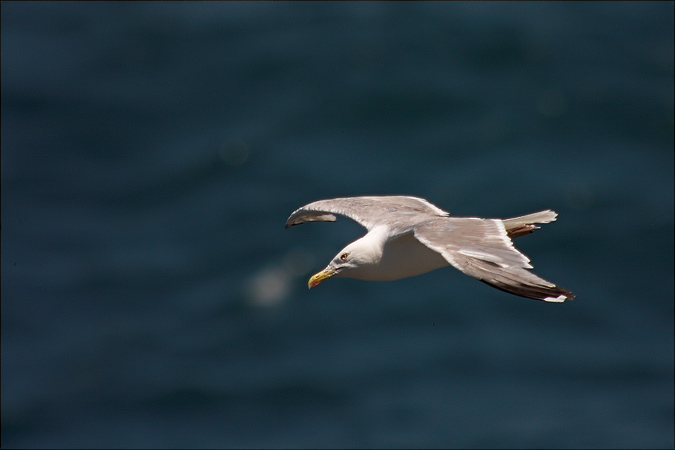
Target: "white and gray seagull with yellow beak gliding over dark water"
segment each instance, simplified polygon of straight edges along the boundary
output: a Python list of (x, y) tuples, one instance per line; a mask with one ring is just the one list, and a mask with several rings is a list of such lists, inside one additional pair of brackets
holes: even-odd
[(521, 297), (564, 302), (575, 295), (539, 278), (527, 256), (511, 239), (556, 220), (550, 209), (511, 219), (450, 217), (427, 200), (411, 196), (344, 197), (319, 200), (291, 214), (286, 228), (305, 222), (335, 222), (348, 217), (368, 232), (340, 250), (309, 289), (332, 277), (392, 281), (448, 265)]

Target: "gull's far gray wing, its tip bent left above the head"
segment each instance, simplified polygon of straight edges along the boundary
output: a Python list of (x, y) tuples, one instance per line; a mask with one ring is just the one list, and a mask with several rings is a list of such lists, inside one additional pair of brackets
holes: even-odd
[(286, 228), (305, 222), (335, 222), (336, 214), (349, 217), (368, 230), (386, 225), (391, 234), (410, 230), (421, 221), (448, 215), (418, 197), (345, 197), (319, 200), (297, 209), (286, 221)]

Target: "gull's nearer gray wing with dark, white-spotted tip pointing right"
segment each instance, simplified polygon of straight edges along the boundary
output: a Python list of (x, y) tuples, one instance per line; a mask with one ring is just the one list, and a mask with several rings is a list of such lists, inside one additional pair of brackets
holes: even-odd
[(574, 298), (567, 289), (527, 270), (532, 268), (530, 260), (513, 247), (499, 219), (435, 219), (417, 226), (415, 237), (456, 269), (497, 289), (547, 302)]

